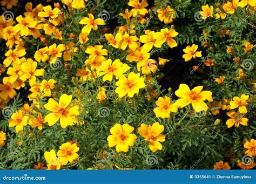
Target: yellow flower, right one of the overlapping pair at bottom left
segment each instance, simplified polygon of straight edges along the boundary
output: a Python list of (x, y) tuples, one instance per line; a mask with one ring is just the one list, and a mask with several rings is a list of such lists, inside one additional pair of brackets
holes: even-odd
[(71, 144), (70, 142), (66, 142), (59, 147), (59, 151), (57, 155), (60, 157), (62, 165), (67, 165), (68, 162), (73, 163), (76, 159), (78, 159), (79, 155), (76, 153), (79, 151), (79, 147), (77, 144)]

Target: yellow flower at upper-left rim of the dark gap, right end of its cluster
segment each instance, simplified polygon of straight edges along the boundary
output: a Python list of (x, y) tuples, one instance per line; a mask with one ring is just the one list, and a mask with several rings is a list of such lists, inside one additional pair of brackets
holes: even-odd
[(176, 32), (174, 29), (168, 30), (168, 28), (161, 29), (160, 32), (156, 32), (153, 36), (153, 39), (156, 39), (156, 44), (158, 46), (163, 45), (163, 43), (167, 42), (167, 44), (173, 48), (176, 47), (178, 44), (173, 39), (179, 33)]

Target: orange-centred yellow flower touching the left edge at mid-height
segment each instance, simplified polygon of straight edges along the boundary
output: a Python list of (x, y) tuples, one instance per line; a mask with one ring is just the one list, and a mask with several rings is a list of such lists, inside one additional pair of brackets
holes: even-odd
[(0, 84), (0, 97), (3, 100), (7, 100), (8, 98), (14, 98), (17, 93), (14, 90), (15, 83), (11, 84), (10, 79), (8, 77), (3, 78), (3, 84)]

